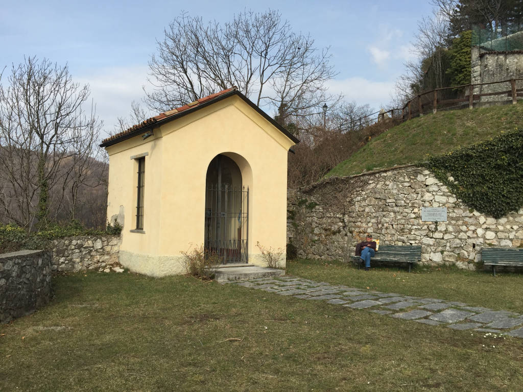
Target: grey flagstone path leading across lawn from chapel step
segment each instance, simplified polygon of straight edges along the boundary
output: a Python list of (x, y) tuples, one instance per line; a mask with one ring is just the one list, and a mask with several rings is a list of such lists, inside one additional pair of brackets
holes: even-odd
[(380, 315), (414, 320), (423, 324), (442, 325), (458, 330), (473, 329), (481, 332), (503, 333), (523, 338), (523, 315), (506, 310), (468, 306), (462, 302), (449, 302), (437, 298), (413, 297), (331, 285), (293, 276), (223, 283), (289, 295), (307, 301), (325, 301), (333, 305), (365, 309)]

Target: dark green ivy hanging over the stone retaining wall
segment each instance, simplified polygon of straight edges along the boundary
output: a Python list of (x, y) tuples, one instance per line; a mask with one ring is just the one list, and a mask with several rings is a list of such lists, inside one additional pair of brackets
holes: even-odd
[[(503, 131), (502, 131), (503, 132)], [(523, 131), (420, 163), (465, 204), (501, 218), (523, 207)]]

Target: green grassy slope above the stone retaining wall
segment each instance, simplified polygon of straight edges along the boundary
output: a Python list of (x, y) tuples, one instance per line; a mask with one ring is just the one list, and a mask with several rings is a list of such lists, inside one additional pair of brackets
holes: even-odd
[(327, 177), (412, 164), (427, 154), (445, 154), (514, 128), (523, 128), (523, 101), (518, 105), (427, 114), (382, 133), (328, 172)]

